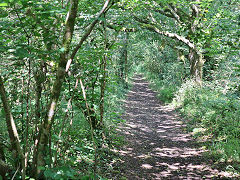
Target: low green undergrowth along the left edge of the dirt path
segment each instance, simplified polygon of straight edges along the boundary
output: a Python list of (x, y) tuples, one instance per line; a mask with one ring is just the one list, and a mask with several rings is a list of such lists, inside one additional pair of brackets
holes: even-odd
[[(107, 87), (104, 124), (102, 130), (93, 131), (89, 123), (79, 113), (76, 116), (69, 136), (70, 142), (63, 143), (61, 148), (69, 150), (63, 154), (63, 166), (45, 169), (45, 176), (48, 179), (106, 179), (112, 173), (111, 163), (117, 155), (111, 150), (123, 143), (122, 137), (116, 134), (118, 124), (123, 122), (121, 102), (125, 98), (128, 88), (119, 79), (112, 79)], [(80, 126), (79, 126), (80, 125)], [(102, 132), (104, 138), (102, 138)]]

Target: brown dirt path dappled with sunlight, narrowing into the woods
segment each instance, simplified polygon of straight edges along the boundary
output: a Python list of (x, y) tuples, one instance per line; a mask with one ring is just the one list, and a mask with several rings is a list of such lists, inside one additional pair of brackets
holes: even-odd
[[(125, 102), (126, 120), (119, 128), (126, 144), (120, 148), (120, 161), (113, 179), (231, 179), (211, 165), (184, 131), (186, 125), (174, 109), (165, 106), (141, 75), (133, 78), (133, 88)], [(114, 175), (112, 175), (114, 176)]]

